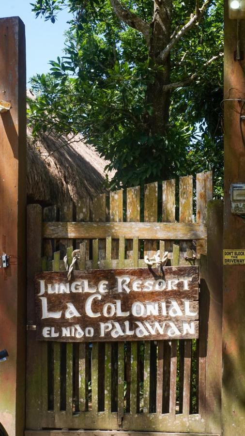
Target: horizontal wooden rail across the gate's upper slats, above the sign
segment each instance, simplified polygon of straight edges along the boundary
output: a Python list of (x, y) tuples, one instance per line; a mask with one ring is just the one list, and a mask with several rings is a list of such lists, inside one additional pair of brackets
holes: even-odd
[(206, 239), (204, 224), (182, 222), (45, 222), (44, 238)]

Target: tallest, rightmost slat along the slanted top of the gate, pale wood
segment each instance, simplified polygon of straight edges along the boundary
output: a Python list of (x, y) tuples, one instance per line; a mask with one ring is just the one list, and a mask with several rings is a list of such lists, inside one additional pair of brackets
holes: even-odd
[[(213, 198), (213, 172), (197, 174), (197, 223), (207, 224), (208, 202)], [(197, 258), (207, 254), (207, 240), (197, 241)]]

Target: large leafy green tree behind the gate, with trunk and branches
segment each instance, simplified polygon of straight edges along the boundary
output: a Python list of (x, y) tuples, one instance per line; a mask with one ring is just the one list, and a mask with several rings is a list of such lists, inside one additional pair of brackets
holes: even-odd
[(113, 187), (214, 168), (220, 196), (223, 2), (200, 3), (36, 0), (36, 16), (71, 20), (63, 57), (31, 78), (34, 133), (81, 133)]

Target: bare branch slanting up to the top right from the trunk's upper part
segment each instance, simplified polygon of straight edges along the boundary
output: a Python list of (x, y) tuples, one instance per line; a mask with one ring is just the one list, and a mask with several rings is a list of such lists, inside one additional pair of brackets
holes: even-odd
[[(112, 0), (111, 0), (112, 1)], [(201, 20), (202, 16), (204, 15), (204, 12), (206, 11), (206, 9), (209, 7), (209, 5), (212, 3), (213, 0), (206, 0), (204, 1), (203, 5), (201, 8), (198, 7), (198, 1), (196, 2), (196, 13), (195, 14), (191, 14), (190, 20), (188, 21), (188, 23), (186, 23), (180, 31), (173, 32), (173, 35), (171, 37), (171, 40), (169, 42), (169, 44), (167, 45), (167, 47), (165, 47), (161, 53), (158, 56), (158, 61), (163, 62), (165, 61), (165, 59), (167, 59), (171, 49), (173, 48), (173, 46), (175, 46), (175, 44), (184, 36), (184, 34), (189, 31), (190, 29), (192, 29), (195, 24), (199, 23), (199, 21)]]

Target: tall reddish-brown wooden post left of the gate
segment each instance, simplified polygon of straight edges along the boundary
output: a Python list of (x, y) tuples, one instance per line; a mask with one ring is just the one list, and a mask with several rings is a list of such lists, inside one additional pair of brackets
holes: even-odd
[(25, 211), (26, 53), (25, 26), (18, 17), (0, 19), (0, 422), (9, 436), (23, 435), (25, 412)]

